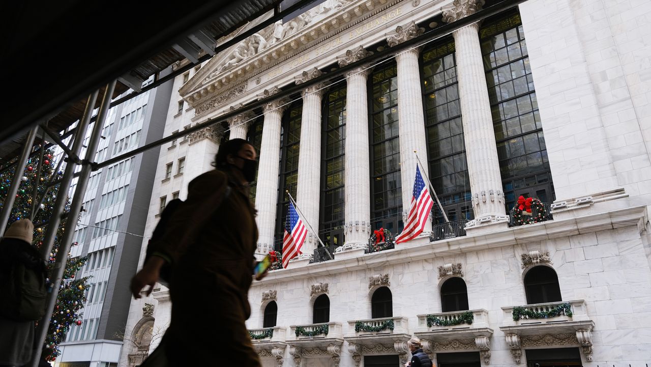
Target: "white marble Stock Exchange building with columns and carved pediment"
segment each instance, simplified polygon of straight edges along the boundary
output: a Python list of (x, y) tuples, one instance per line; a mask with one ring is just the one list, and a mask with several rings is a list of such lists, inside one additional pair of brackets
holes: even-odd
[[(328, 0), (174, 81), (165, 136), (270, 102), (161, 148), (148, 229), (245, 138), (258, 257), (286, 191), (324, 244), (251, 287), (264, 366), (403, 366), (414, 335), (438, 367), (651, 363), (651, 5), (528, 0), (410, 42), (492, 5)], [(440, 205), (396, 244), (419, 163)], [(132, 301), (122, 365), (170, 313), (163, 286)]]

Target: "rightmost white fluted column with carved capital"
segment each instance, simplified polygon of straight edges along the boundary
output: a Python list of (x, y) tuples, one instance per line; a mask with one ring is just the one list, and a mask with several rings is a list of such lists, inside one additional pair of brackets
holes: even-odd
[[(443, 12), (443, 22), (454, 22), (473, 14), (483, 3), (482, 0), (454, 0), (452, 8)], [(467, 224), (467, 228), (492, 223), (506, 226), (508, 221), (478, 29), (478, 23), (474, 23), (452, 33), (456, 49), (465, 156), (475, 214), (475, 219)]]

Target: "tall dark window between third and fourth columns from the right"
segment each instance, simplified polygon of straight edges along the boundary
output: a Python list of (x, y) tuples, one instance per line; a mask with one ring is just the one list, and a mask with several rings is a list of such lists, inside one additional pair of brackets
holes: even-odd
[(331, 87), (326, 95), (321, 182), (321, 225), (326, 246), (344, 244), (344, 147), (346, 137), (346, 82)]

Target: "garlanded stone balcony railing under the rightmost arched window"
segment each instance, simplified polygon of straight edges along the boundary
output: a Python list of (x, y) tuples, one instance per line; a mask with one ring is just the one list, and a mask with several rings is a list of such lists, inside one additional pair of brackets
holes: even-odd
[(504, 325), (528, 325), (587, 319), (585, 301), (549, 302), (503, 307)]

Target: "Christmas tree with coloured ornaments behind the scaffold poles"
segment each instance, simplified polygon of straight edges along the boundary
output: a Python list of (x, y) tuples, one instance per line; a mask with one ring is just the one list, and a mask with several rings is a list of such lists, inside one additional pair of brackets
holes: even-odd
[[(59, 185), (52, 186), (49, 190), (46, 186), (49, 181), (56, 181), (62, 176), (62, 171), (55, 172), (56, 166), (52, 160), (53, 153), (53, 149), (46, 149), (44, 151), (43, 164), (40, 167), (40, 177), (38, 176), (38, 160), (40, 154), (36, 154), (36, 157), (30, 158), (27, 161), (27, 166), (23, 171), (23, 177), (21, 177), (18, 194), (14, 201), (14, 207), (9, 216), (9, 224), (11, 224), (19, 219), (30, 218), (33, 207), (35, 211), (38, 211), (33, 219), (35, 228), (33, 244), (38, 247), (43, 244), (43, 237), (46, 233), (49, 218), (57, 214), (53, 213), (53, 205), (57, 199), (56, 195), (59, 190)], [(8, 169), (0, 173), (0, 209), (7, 198), (7, 190), (11, 184), (12, 177), (14, 177), (15, 169)], [(40, 205), (38, 205), (39, 202)], [(68, 212), (69, 203), (69, 200), (66, 201), (64, 213)], [(57, 256), (60, 255), (59, 246), (61, 245), (66, 221), (68, 220), (72, 219), (65, 218), (61, 220), (61, 224), (57, 228), (52, 252), (49, 254), (48, 259), (48, 274), (50, 277), (54, 262)], [(76, 245), (76, 242), (73, 243), (73, 246)], [(88, 258), (71, 257), (70, 253), (66, 254), (66, 256), (66, 267), (62, 277), (59, 295), (57, 296), (57, 304), (50, 319), (48, 334), (44, 344), (43, 355), (49, 361), (55, 360), (60, 354), (58, 345), (63, 341), (70, 327), (74, 324), (81, 325), (83, 322), (83, 315), (80, 311), (86, 302), (84, 289), (88, 286), (87, 282), (89, 278), (75, 277)]]

